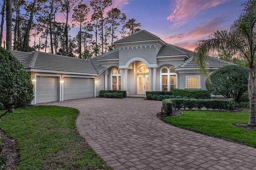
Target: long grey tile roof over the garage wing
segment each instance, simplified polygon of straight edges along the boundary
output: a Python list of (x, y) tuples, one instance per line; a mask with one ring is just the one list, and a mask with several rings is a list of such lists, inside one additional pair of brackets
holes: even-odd
[(24, 52), (12, 51), (12, 53), (15, 57), (22, 60), (22, 65), (24, 65), (25, 69), (50, 70), (53, 72), (65, 71), (85, 74), (98, 74), (104, 69), (96, 62), (63, 55), (32, 51), (28, 53), (26, 59), (24, 59), (24, 57), (21, 57), (25, 56)]

